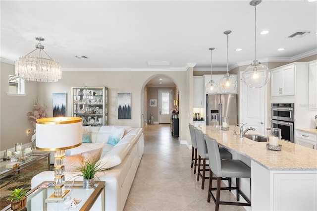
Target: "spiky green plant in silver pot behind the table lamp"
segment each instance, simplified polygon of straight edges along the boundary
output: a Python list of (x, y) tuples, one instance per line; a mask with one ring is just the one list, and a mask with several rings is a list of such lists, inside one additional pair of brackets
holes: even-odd
[[(105, 171), (108, 168), (103, 168), (103, 163), (101, 160), (93, 158), (92, 160), (85, 160), (84, 165), (77, 166), (77, 170), (80, 173), (76, 173), (74, 177), (82, 176), (83, 179), (83, 187), (84, 188), (91, 188), (95, 186), (95, 175), (99, 171)], [(96, 175), (99, 179), (99, 177)]]

